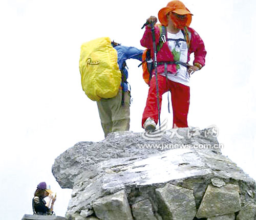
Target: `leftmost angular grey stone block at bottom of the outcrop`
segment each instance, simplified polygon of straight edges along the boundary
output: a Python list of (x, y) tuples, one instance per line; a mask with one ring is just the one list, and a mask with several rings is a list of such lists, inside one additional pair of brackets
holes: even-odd
[(96, 200), (93, 209), (99, 219), (133, 220), (124, 190)]

